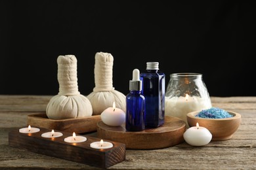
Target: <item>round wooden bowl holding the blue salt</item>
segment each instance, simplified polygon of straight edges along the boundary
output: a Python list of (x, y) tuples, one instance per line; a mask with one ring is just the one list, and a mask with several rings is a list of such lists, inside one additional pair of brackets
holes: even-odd
[(236, 132), (241, 122), (241, 115), (237, 112), (227, 111), (232, 114), (231, 118), (200, 118), (196, 117), (200, 111), (189, 112), (186, 115), (188, 125), (190, 127), (196, 126), (198, 122), (199, 126), (207, 128), (211, 135), (213, 135), (211, 141), (224, 141), (232, 137)]

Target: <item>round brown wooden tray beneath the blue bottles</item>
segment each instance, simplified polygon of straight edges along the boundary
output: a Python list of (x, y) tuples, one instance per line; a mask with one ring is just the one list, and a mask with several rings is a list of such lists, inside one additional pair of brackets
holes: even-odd
[(125, 143), (127, 149), (158, 149), (175, 146), (184, 141), (185, 131), (186, 123), (172, 116), (165, 116), (163, 126), (144, 131), (126, 131), (125, 124), (108, 126), (102, 121), (97, 123), (98, 138)]

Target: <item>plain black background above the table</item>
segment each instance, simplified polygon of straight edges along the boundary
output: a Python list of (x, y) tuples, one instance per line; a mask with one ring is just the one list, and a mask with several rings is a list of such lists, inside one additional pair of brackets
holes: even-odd
[(171, 73), (202, 73), (211, 96), (253, 96), (255, 11), (236, 1), (0, 1), (0, 94), (56, 95), (56, 59), (73, 54), (88, 95), (95, 54), (108, 52), (125, 95), (133, 69), (158, 61), (166, 86)]

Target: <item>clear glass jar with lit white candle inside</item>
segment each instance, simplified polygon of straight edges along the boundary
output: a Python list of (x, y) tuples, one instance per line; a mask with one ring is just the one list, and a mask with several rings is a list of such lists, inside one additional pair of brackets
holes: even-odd
[(186, 114), (211, 108), (211, 99), (200, 73), (173, 73), (165, 93), (165, 115), (181, 118)]

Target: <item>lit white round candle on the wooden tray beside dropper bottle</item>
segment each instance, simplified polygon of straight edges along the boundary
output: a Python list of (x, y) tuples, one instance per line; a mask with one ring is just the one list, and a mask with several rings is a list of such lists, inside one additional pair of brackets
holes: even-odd
[(101, 114), (100, 118), (104, 124), (108, 126), (121, 126), (125, 122), (125, 112), (116, 108), (116, 103), (113, 102), (113, 107), (108, 107)]

